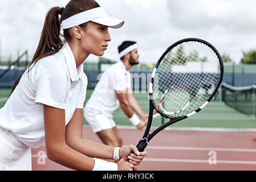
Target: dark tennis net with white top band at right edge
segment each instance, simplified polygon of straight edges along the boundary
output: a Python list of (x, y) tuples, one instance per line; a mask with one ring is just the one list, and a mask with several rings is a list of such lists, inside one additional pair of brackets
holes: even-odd
[(230, 107), (241, 113), (254, 115), (256, 117), (256, 85), (250, 86), (231, 86), (222, 83), (221, 86), (222, 101)]

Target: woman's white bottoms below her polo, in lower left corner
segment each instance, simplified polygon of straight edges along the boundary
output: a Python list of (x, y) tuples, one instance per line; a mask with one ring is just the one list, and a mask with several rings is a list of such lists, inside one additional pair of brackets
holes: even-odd
[(0, 171), (31, 171), (31, 148), (0, 127)]

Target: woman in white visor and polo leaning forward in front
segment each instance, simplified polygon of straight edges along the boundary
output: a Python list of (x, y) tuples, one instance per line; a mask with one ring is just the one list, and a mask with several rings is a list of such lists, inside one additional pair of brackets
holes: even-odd
[(31, 170), (31, 148), (44, 142), (48, 158), (68, 168), (136, 170), (147, 152), (82, 137), (87, 88), (83, 62), (90, 54), (102, 56), (111, 41), (108, 27), (123, 24), (93, 0), (72, 0), (65, 8), (48, 11), (35, 55), (0, 110), (1, 170)]

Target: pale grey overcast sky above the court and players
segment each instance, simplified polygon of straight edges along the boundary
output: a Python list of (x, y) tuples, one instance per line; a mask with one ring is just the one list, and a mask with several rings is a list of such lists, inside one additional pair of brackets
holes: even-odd
[[(1, 0), (0, 41), (2, 58), (13, 59), (26, 49), (35, 52), (44, 17), (52, 6), (68, 0)], [(174, 42), (204, 39), (239, 62), (242, 51), (256, 49), (255, 0), (98, 0), (108, 14), (125, 20), (109, 29), (112, 41), (104, 57), (119, 60), (117, 47), (124, 40), (139, 44), (140, 61), (156, 63)], [(90, 56), (87, 60), (97, 60)]]

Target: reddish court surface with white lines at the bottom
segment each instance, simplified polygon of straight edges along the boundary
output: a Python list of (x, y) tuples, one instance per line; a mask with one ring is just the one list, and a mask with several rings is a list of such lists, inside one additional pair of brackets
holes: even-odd
[[(144, 131), (120, 129), (124, 146), (136, 146)], [(84, 137), (100, 142), (90, 127)], [(146, 148), (139, 171), (256, 170), (256, 131), (164, 130)], [(33, 171), (71, 170), (47, 159), (45, 147), (32, 149)]]

